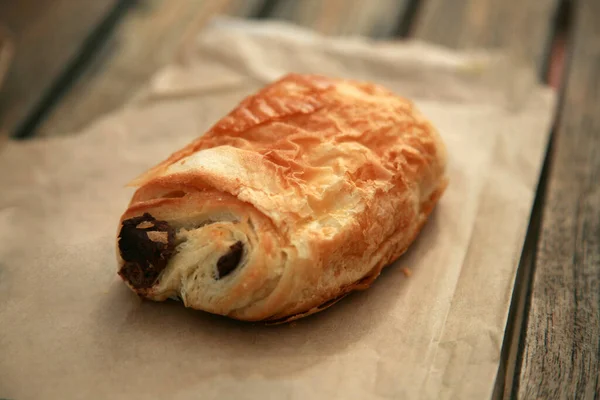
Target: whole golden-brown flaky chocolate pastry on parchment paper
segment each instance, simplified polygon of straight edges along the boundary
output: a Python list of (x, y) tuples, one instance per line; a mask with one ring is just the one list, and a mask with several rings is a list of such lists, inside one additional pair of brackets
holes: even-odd
[(367, 288), (442, 195), (446, 151), (408, 100), (291, 74), (133, 182), (119, 275), (140, 296), (287, 321)]

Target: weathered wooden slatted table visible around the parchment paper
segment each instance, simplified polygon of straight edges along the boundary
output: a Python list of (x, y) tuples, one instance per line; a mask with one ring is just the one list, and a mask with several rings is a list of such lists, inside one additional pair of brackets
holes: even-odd
[(127, 101), (218, 13), (501, 48), (557, 88), (494, 397), (600, 396), (600, 1), (0, 1), (16, 49), (0, 128), (15, 138), (80, 129)]

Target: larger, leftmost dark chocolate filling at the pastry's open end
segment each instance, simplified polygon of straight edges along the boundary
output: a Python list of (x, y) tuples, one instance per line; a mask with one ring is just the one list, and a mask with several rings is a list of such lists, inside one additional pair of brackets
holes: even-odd
[(151, 287), (175, 249), (175, 230), (145, 213), (123, 221), (119, 251), (125, 265), (119, 275), (136, 289)]

